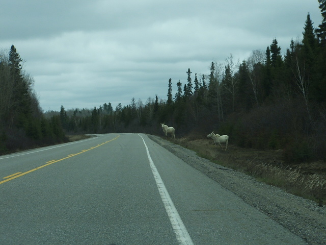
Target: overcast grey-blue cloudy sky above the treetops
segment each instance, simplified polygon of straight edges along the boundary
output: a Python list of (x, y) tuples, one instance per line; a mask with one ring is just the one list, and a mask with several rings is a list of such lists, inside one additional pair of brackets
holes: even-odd
[(247, 59), (274, 38), (282, 54), (302, 37), (317, 0), (5, 0), (0, 50), (15, 45), (44, 111), (167, 99), (188, 68)]

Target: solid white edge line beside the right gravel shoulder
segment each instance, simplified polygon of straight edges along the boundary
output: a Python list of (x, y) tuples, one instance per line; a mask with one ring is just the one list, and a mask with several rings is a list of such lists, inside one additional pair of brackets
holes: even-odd
[(154, 162), (149, 154), (149, 151), (148, 151), (148, 148), (147, 148), (144, 138), (140, 134), (138, 134), (138, 135), (143, 139), (143, 142), (145, 144), (149, 164), (152, 169), (152, 173), (154, 175), (154, 179), (155, 179), (155, 182), (156, 182), (156, 185), (158, 188), (158, 192), (159, 192), (162, 202), (167, 210), (168, 216), (170, 218), (170, 222), (172, 224), (173, 230), (176, 234), (176, 238), (177, 238), (179, 244), (180, 245), (194, 245), (194, 242), (193, 242), (192, 238), (190, 237), (187, 229), (185, 228), (185, 226), (182, 222), (182, 219), (173, 204), (173, 201), (169, 195), (169, 192), (168, 192), (167, 188), (165, 187), (165, 184), (163, 183), (163, 181), (157, 171), (157, 168), (154, 165)]

